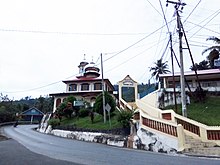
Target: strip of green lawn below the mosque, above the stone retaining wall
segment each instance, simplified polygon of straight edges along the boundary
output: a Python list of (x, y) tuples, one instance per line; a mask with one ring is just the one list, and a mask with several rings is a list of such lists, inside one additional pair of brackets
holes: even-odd
[(106, 123), (104, 123), (103, 117), (99, 114), (94, 116), (93, 123), (89, 116), (83, 118), (65, 118), (61, 121), (61, 125), (75, 125), (78, 128), (88, 128), (88, 129), (98, 129), (98, 130), (108, 130), (112, 128), (121, 128), (121, 124), (117, 121), (117, 116), (111, 117), (111, 126), (109, 123), (109, 118), (107, 115)]

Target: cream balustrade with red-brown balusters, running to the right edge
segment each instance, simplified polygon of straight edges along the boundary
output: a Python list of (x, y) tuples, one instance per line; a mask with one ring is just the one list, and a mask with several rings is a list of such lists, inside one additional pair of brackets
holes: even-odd
[[(155, 96), (153, 96), (153, 98), (154, 99), (152, 99), (152, 102), (154, 102)], [(156, 103), (151, 103), (151, 105), (148, 104), (149, 100), (150, 98), (143, 98), (141, 100), (137, 100), (136, 104), (140, 111), (143, 111), (153, 118), (161, 119), (161, 122), (157, 122), (157, 120), (154, 119), (154, 121), (149, 120), (142, 124), (147, 124), (148, 127), (157, 131), (160, 131), (163, 127), (166, 128), (167, 126), (165, 126), (165, 124), (181, 124), (185, 134), (193, 136), (194, 138), (200, 139), (204, 142), (214, 142), (217, 145), (220, 145), (220, 126), (207, 126), (205, 124), (176, 114), (173, 110), (160, 110), (159, 108), (155, 108), (154, 106), (152, 106)], [(143, 116), (140, 116), (140, 118), (142, 117)], [(164, 126), (161, 128), (161, 125)], [(169, 134), (170, 132), (168, 130), (165, 130), (165, 133)]]

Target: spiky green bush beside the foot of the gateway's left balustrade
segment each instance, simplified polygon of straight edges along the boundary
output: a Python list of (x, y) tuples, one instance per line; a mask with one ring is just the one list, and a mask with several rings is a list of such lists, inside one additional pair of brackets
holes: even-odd
[(130, 110), (121, 110), (121, 112), (117, 115), (117, 120), (124, 128), (126, 128), (130, 126), (130, 121), (133, 115), (134, 113)]

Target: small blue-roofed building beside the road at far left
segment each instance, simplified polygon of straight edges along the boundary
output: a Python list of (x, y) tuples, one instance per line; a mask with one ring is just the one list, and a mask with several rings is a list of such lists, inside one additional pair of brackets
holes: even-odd
[(22, 112), (20, 116), (24, 121), (30, 121), (31, 123), (33, 123), (33, 122), (40, 122), (44, 116), (44, 113), (41, 112), (39, 109), (32, 107)]

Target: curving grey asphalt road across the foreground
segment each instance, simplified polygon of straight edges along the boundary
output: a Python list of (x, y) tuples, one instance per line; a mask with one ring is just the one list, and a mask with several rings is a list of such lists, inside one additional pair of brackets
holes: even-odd
[[(118, 148), (98, 143), (82, 142), (77, 140), (59, 138), (38, 133), (31, 128), (33, 125), (19, 125), (4, 127), (4, 133), (25, 146), (26, 152), (37, 154), (39, 159), (63, 160), (60, 164), (72, 162), (72, 164), (89, 165), (219, 165), (220, 160), (183, 155), (167, 155), (141, 150)], [(10, 141), (10, 140), (9, 140)], [(5, 141), (4, 143), (7, 143)], [(17, 144), (16, 142), (14, 142)], [(2, 142), (0, 142), (1, 148)], [(6, 145), (6, 144), (5, 144)], [(16, 146), (16, 145), (15, 145)], [(4, 149), (4, 148), (3, 148)], [(1, 149), (2, 151), (2, 149)], [(14, 148), (16, 151), (16, 147)], [(23, 150), (22, 150), (23, 152)], [(2, 155), (2, 153), (0, 153)], [(25, 154), (24, 154), (25, 155)], [(23, 155), (23, 157), (24, 157)], [(30, 156), (30, 155), (27, 155)], [(49, 157), (49, 158), (48, 158)], [(36, 156), (34, 160), (37, 160)], [(0, 160), (4, 156), (0, 156)], [(58, 161), (57, 160), (57, 161)], [(22, 159), (21, 159), (22, 161)], [(1, 162), (1, 161), (0, 161)], [(0, 163), (1, 164), (1, 163)], [(39, 164), (48, 164), (40, 163)], [(59, 163), (58, 163), (59, 164)]]

